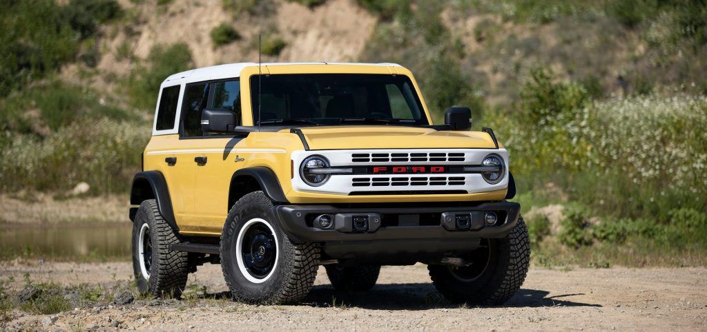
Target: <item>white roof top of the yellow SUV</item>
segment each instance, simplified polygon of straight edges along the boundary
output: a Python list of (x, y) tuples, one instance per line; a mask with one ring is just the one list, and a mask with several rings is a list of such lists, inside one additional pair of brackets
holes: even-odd
[[(334, 63), (334, 62), (271, 62), (261, 63), (262, 66), (289, 66), (289, 65), (361, 65), (361, 66), (396, 66), (397, 63)], [(185, 80), (188, 82), (201, 82), (205, 80), (221, 80), (224, 78), (238, 78), (240, 71), (246, 67), (258, 66), (255, 62), (228, 63), (225, 65), (197, 68), (182, 73), (170, 75), (164, 82)]]

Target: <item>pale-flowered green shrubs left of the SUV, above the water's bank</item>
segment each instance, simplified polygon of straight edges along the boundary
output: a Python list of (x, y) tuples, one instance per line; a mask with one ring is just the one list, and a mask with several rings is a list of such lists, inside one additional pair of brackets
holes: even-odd
[(76, 121), (43, 139), (12, 132), (0, 136), (2, 192), (70, 190), (85, 181), (93, 193), (103, 193), (129, 190), (150, 131), (146, 125), (103, 118)]

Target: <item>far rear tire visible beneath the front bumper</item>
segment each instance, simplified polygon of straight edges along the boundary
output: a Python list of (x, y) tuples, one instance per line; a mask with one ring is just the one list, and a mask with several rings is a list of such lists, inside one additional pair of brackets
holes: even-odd
[(363, 292), (370, 290), (378, 281), (380, 265), (342, 267), (339, 264), (325, 265), (327, 276), (337, 290)]

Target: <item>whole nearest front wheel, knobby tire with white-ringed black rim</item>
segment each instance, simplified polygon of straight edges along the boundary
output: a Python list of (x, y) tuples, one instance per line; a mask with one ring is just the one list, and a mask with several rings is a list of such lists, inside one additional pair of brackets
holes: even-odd
[(296, 302), (312, 288), (319, 245), (291, 242), (276, 218), (262, 191), (241, 197), (230, 209), (221, 233), (221, 269), (233, 300)]

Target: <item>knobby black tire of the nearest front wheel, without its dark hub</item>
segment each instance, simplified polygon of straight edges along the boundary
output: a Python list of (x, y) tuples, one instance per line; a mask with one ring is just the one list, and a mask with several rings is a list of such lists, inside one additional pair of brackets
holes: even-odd
[[(309, 293), (317, 277), (320, 245), (291, 242), (282, 231), (273, 206), (262, 191), (257, 191), (238, 199), (228, 212), (221, 233), (221, 269), (235, 301), (262, 305), (297, 302)], [(269, 224), (277, 244), (277, 256), (271, 273), (259, 283), (248, 279), (245, 275), (248, 272), (239, 267), (237, 257), (240, 232), (244, 225), (255, 219)], [(243, 269), (246, 269), (245, 265)]]

